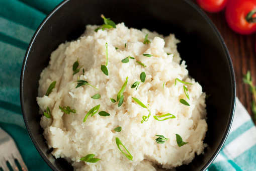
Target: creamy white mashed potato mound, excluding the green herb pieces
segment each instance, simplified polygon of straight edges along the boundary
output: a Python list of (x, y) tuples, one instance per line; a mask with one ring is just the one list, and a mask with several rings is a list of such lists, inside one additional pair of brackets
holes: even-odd
[[(59, 45), (52, 52), (49, 65), (41, 73), (37, 102), (41, 114), (47, 107), (51, 111), (51, 118), (43, 115), (40, 124), (49, 148), (53, 148), (52, 154), (56, 158), (66, 158), (75, 170), (125, 171), (156, 170), (156, 165), (174, 168), (190, 163), (195, 154), (203, 153), (207, 131), (205, 93), (201, 85), (189, 76), (185, 61), (181, 62), (177, 51), (179, 40), (173, 34), (163, 37), (146, 29), (129, 29), (123, 23), (118, 24), (116, 29), (95, 32), (96, 28), (89, 25), (80, 38)], [(151, 41), (149, 44), (143, 44), (146, 34)], [(108, 76), (101, 71), (101, 65), (106, 62), (106, 42)], [(166, 52), (171, 54), (167, 55)], [(143, 54), (152, 54), (152, 57)], [(129, 55), (135, 59), (122, 63), (121, 60)], [(81, 69), (72, 75), (72, 65), (77, 58), (78, 68)], [(140, 83), (137, 91), (131, 89), (135, 81), (140, 81), (143, 71), (146, 73), (145, 82)], [(99, 90), (89, 85), (76, 89), (78, 76)], [(124, 102), (118, 107), (118, 103), (112, 103), (110, 98), (116, 99), (127, 76)], [(175, 85), (176, 78), (193, 83), (186, 84), (190, 100), (184, 93), (185, 84), (177, 82)], [(55, 88), (49, 96), (45, 96), (54, 80), (57, 82)], [(95, 94), (100, 94), (101, 98), (92, 99)], [(135, 103), (132, 97), (145, 105), (149, 104), (152, 115), (148, 121), (141, 124), (142, 116), (147, 116), (148, 111)], [(186, 100), (190, 106), (180, 103), (180, 99)], [(106, 111), (110, 116), (96, 113), (83, 122), (87, 112), (99, 104), (99, 111)], [(65, 114), (59, 106), (69, 106), (76, 113)], [(156, 114), (166, 113), (176, 118), (165, 121), (153, 118)], [(113, 130), (117, 126), (122, 127), (121, 132)], [(179, 147), (176, 134), (188, 143)], [(155, 135), (169, 139), (158, 144)], [(129, 150), (133, 160), (118, 149), (116, 137)], [(87, 154), (95, 154), (101, 160), (96, 163), (80, 161)]]

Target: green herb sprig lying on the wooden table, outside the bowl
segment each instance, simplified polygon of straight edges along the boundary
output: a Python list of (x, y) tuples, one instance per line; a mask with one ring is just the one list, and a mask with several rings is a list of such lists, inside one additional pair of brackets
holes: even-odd
[(250, 71), (243, 75), (243, 82), (249, 85), (249, 90), (252, 93), (251, 110), (254, 114), (254, 120), (256, 120), (256, 86), (252, 83)]

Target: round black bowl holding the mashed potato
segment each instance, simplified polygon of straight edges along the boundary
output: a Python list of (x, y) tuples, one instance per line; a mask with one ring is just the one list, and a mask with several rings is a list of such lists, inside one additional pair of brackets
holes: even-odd
[(55, 159), (39, 125), (36, 102), (40, 73), (59, 44), (78, 38), (88, 24), (103, 23), (100, 15), (128, 27), (147, 28), (163, 35), (175, 33), (178, 50), (189, 73), (211, 95), (207, 99), (208, 131), (205, 153), (177, 170), (205, 170), (228, 135), (235, 106), (235, 77), (225, 43), (205, 13), (188, 0), (69, 0), (61, 3), (40, 25), (27, 50), (21, 74), (21, 105), (30, 137), (53, 170), (72, 170), (64, 159)]

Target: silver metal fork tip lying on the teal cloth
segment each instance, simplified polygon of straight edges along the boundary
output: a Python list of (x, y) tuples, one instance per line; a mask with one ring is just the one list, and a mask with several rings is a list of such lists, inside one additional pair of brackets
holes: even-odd
[(23, 171), (28, 170), (13, 138), (0, 128), (0, 167), (2, 167), (4, 171), (8, 171), (8, 161), (13, 170), (19, 171), (19, 168), (15, 163), (15, 159), (19, 161)]

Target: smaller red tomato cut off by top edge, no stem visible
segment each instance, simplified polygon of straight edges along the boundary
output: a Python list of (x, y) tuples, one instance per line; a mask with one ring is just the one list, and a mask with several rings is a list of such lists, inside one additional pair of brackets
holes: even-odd
[(197, 0), (197, 4), (207, 12), (217, 13), (225, 8), (227, 0)]

